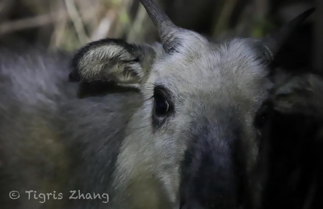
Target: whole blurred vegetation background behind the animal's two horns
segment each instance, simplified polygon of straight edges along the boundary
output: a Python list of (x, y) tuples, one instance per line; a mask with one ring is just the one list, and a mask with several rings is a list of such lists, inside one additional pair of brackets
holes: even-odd
[[(298, 49), (291, 51), (298, 50), (312, 66), (322, 68), (323, 0), (158, 1), (175, 24), (210, 39), (266, 36), (316, 7), (316, 14), (294, 37)], [(75, 51), (89, 41), (106, 37), (158, 41), (139, 0), (0, 0), (1, 41), (20, 38), (50, 50)]]

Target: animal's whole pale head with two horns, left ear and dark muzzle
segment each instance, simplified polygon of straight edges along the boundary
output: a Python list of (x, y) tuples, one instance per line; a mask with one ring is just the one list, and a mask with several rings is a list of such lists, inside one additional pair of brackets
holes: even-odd
[(257, 208), (275, 88), (270, 64), (313, 10), (274, 36), (214, 44), (173, 24), (153, 1), (141, 3), (161, 43), (89, 43), (70, 74), (132, 86), (145, 98), (122, 141), (113, 201), (126, 208)]

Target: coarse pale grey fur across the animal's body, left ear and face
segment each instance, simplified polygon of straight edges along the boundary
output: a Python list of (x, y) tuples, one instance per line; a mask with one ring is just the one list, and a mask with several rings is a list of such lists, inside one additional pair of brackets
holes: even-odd
[[(33, 50), (0, 53), (1, 197), (53, 188), (109, 194), (107, 204), (21, 198), (1, 200), (5, 206), (261, 207), (270, 137), (261, 119), (277, 92), (268, 47), (247, 38), (214, 44), (172, 27), (162, 44), (89, 43), (74, 56), (69, 76), (61, 59)], [(80, 99), (68, 77), (135, 88)], [(158, 98), (167, 101), (165, 114), (156, 109)]]

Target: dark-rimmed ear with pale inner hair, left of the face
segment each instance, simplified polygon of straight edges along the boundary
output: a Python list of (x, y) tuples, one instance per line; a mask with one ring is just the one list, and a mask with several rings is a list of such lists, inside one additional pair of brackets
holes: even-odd
[(136, 86), (144, 82), (156, 57), (148, 44), (103, 39), (81, 48), (72, 60), (70, 81), (113, 81)]

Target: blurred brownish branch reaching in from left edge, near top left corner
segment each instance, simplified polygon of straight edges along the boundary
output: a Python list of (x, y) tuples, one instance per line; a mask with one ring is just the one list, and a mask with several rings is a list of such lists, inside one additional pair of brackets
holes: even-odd
[(12, 33), (19, 30), (35, 28), (47, 24), (52, 24), (57, 20), (68, 18), (66, 12), (59, 11), (56, 15), (52, 14), (41, 14), (34, 17), (27, 17), (23, 19), (7, 21), (0, 24), (0, 34)]

